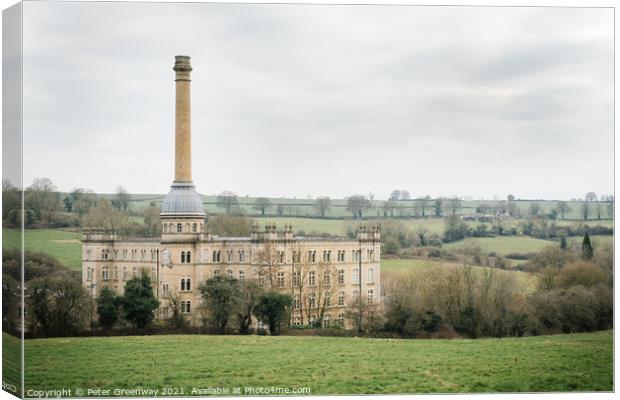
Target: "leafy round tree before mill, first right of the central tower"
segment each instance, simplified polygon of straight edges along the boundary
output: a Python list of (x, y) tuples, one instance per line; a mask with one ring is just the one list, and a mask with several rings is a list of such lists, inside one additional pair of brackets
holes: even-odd
[(228, 328), (239, 306), (239, 281), (230, 276), (216, 275), (198, 290), (209, 312), (211, 324), (221, 332)]

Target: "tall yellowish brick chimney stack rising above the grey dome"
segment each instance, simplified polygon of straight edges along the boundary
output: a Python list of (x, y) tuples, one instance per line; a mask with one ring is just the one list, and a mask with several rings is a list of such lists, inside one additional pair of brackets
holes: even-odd
[(175, 112), (175, 162), (174, 181), (192, 181), (192, 128), (190, 117), (190, 72), (188, 56), (176, 56), (176, 112)]

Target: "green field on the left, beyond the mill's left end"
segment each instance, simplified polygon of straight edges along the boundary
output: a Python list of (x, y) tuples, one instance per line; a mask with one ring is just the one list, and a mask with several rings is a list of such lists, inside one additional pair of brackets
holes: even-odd
[[(49, 254), (64, 266), (73, 269), (82, 267), (81, 236), (77, 232), (55, 229), (26, 229), (24, 243), (26, 251), (38, 251)], [(2, 229), (2, 247), (19, 249), (19, 229)]]

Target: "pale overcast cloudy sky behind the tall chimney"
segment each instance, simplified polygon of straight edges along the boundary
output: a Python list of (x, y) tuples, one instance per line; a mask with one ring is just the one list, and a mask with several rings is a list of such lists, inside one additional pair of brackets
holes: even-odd
[(24, 181), (204, 194), (613, 192), (613, 11), (26, 3)]

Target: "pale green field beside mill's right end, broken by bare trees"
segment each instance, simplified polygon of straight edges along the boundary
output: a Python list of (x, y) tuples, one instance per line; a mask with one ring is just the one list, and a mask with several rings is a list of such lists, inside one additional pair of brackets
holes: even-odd
[[(512, 262), (512, 260), (510, 260)], [(398, 279), (399, 274), (411, 272), (414, 274), (419, 272), (428, 272), (444, 268), (458, 267), (458, 264), (449, 263), (441, 260), (381, 260), (382, 279), (394, 278)], [(481, 273), (483, 267), (472, 267), (474, 273)], [(521, 288), (522, 293), (531, 293), (536, 289), (537, 278), (533, 274), (522, 271), (497, 270), (499, 274), (508, 274), (514, 277), (517, 285)]]

